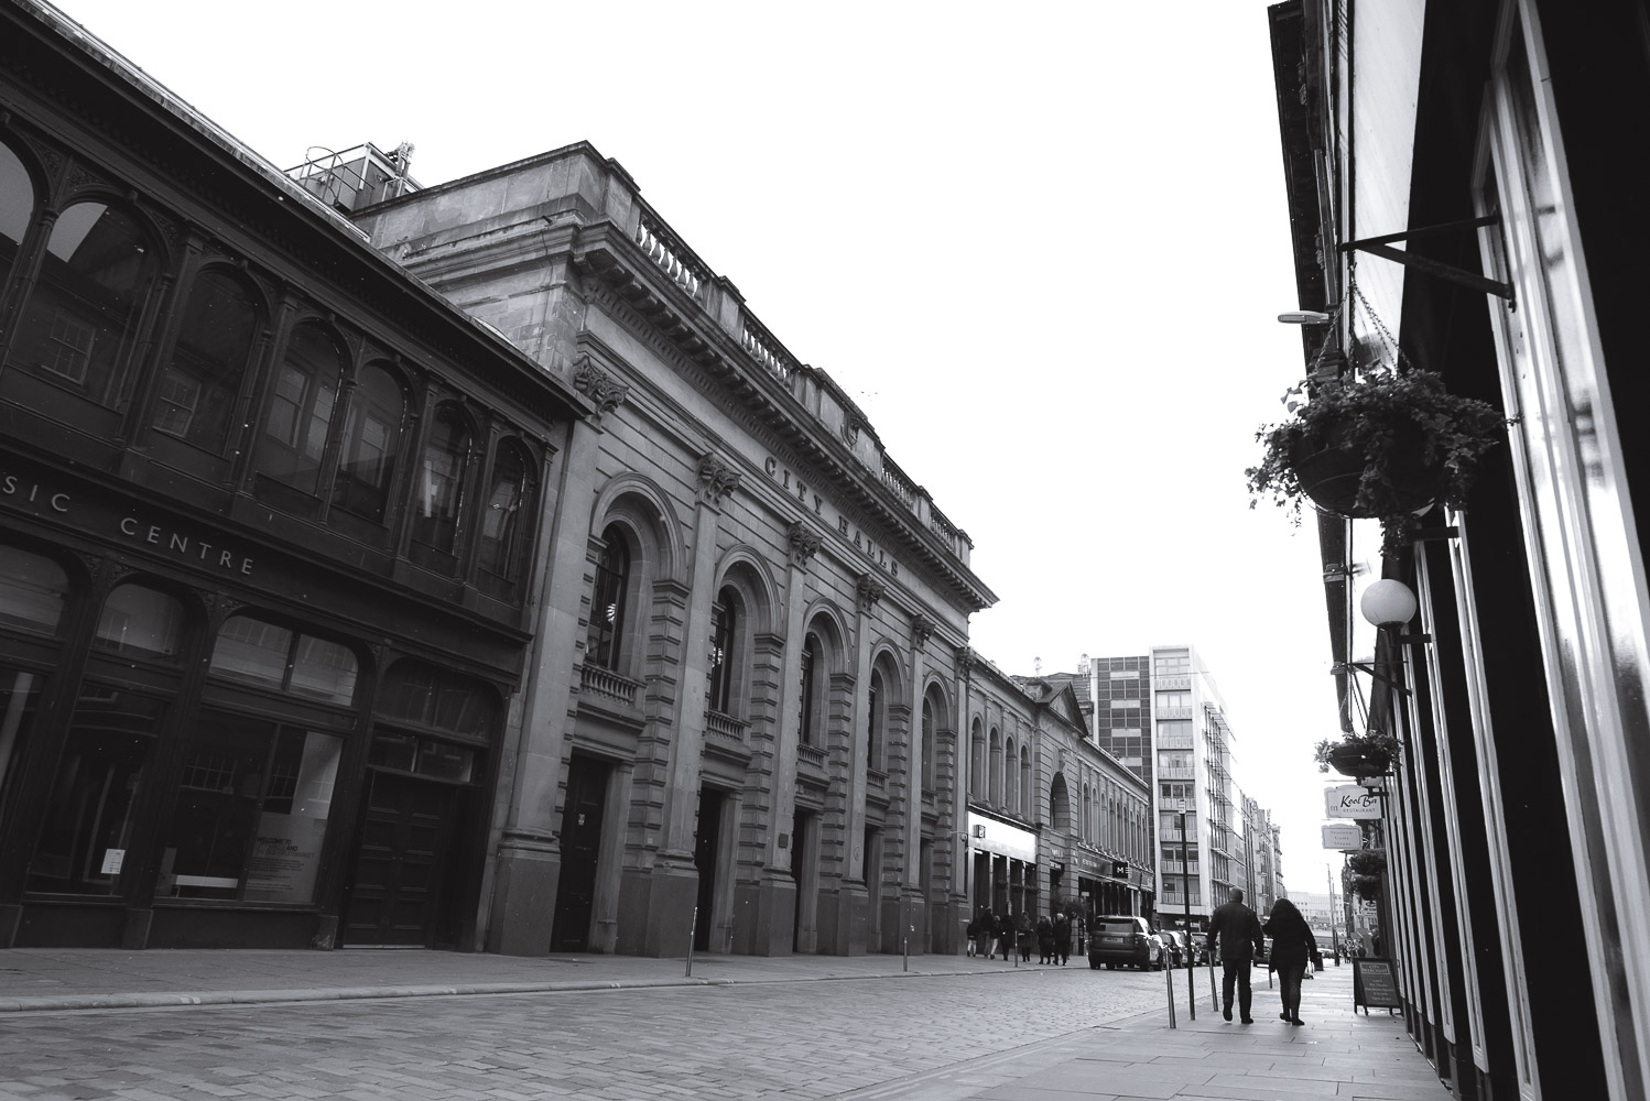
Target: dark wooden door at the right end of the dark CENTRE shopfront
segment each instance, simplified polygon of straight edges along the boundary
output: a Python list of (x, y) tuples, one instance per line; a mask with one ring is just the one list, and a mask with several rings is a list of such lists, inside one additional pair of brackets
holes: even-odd
[(373, 773), (343, 939), (429, 944), (457, 814), (457, 788)]

